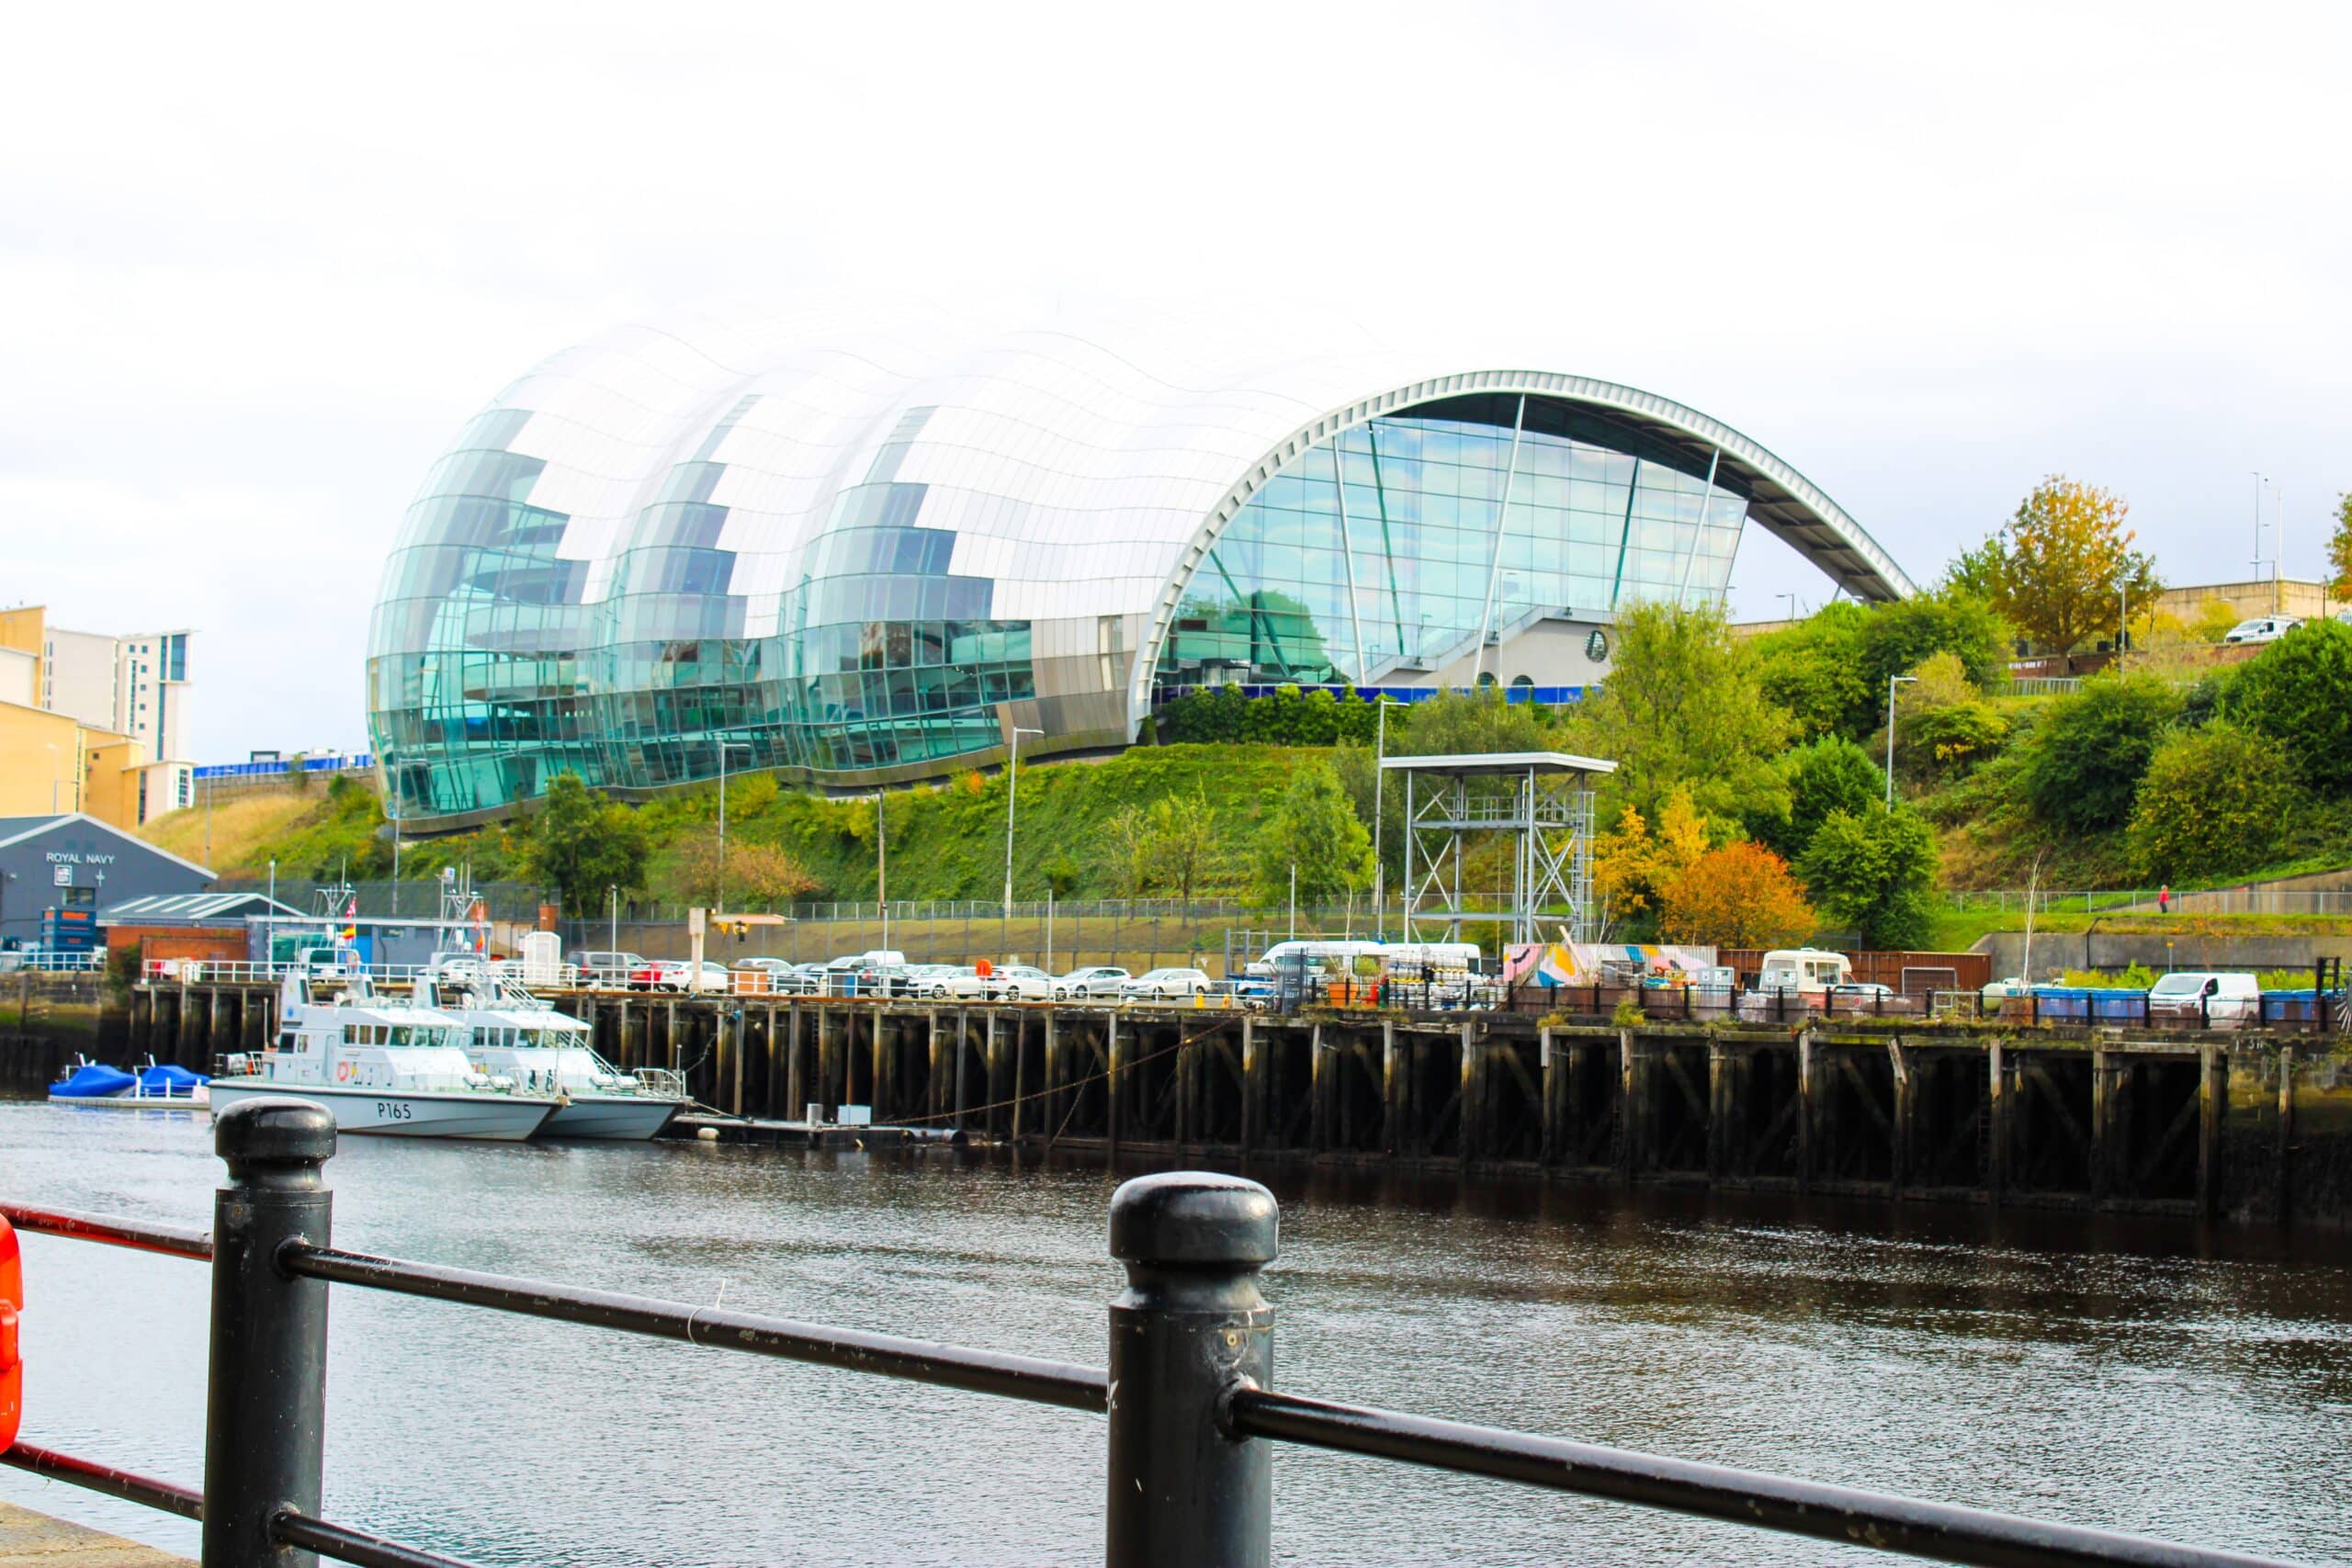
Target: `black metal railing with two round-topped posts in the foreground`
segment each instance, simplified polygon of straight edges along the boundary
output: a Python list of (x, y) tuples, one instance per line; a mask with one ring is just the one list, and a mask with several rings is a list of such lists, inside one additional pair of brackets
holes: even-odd
[(1272, 1556), (1272, 1446), (1301, 1443), (1548, 1490), (1745, 1523), (1952, 1563), (2223, 1568), (2270, 1559), (1891, 1497), (1496, 1427), (1277, 1394), (1277, 1208), (1249, 1180), (1143, 1175), (1110, 1201), (1110, 1366), (828, 1328), (612, 1291), (480, 1274), (332, 1244), (322, 1180), (334, 1119), (303, 1100), (247, 1100), (216, 1117), (228, 1182), (209, 1237), (169, 1225), (0, 1206), (19, 1229), (212, 1262), (205, 1488), (193, 1490), (19, 1443), (7, 1465), (195, 1519), (202, 1568), (466, 1568), (320, 1516), (332, 1284), (520, 1312), (910, 1378), (1108, 1415), (1105, 1561), (1261, 1568)]

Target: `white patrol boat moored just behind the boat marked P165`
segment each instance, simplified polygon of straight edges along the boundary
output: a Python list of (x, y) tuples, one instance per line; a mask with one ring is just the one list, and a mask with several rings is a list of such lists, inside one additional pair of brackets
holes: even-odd
[(520, 1093), (555, 1095), (541, 1138), (654, 1138), (687, 1103), (682, 1074), (614, 1067), (590, 1048), (588, 1025), (477, 961), (437, 966), (419, 999), (463, 1025), (475, 1072), (513, 1081)]

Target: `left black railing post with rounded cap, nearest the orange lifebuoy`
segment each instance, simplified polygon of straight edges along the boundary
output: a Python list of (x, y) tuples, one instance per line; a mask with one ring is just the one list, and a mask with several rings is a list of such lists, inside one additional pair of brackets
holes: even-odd
[(313, 1568), (280, 1547), (282, 1509), (320, 1512), (327, 1443), (327, 1284), (278, 1265), (329, 1244), (320, 1166), (334, 1117), (308, 1100), (245, 1100), (212, 1124), (228, 1185), (212, 1208), (212, 1373), (205, 1408), (202, 1568)]

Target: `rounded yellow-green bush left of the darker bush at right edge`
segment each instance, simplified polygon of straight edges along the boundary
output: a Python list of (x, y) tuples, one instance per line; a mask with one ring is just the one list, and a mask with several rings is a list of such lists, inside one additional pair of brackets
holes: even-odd
[(2180, 729), (2140, 778), (2131, 858), (2164, 882), (2260, 870), (2279, 858), (2293, 806), (2293, 769), (2277, 741), (2234, 724)]

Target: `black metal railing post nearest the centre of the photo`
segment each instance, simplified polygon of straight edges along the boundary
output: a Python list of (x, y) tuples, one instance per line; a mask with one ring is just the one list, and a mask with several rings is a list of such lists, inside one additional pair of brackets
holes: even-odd
[(1263, 1568), (1268, 1446), (1223, 1432), (1225, 1394), (1275, 1371), (1275, 1194), (1237, 1175), (1138, 1175), (1110, 1199), (1110, 1568)]

